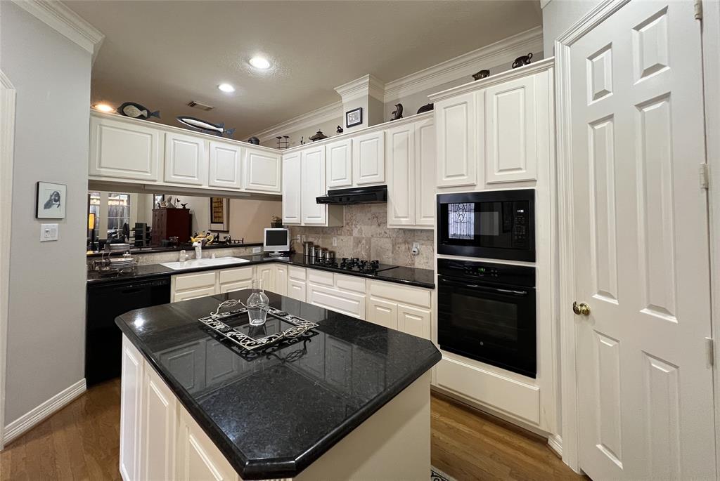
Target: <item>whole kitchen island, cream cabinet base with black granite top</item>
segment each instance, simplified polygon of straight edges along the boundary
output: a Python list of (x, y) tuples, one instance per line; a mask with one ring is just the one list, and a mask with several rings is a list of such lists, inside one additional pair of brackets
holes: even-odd
[(434, 344), (274, 293), (318, 327), (248, 353), (198, 321), (249, 294), (117, 318), (125, 481), (426, 479)]

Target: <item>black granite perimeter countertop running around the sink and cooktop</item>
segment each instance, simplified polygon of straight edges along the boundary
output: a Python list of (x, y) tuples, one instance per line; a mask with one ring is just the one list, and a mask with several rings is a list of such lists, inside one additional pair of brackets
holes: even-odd
[(236, 257), (238, 257), (239, 259), (245, 259), (248, 262), (244, 262), (243, 264), (225, 266), (195, 267), (192, 269), (184, 270), (172, 270), (171, 268), (165, 267), (160, 264), (138, 265), (137, 267), (135, 267), (134, 272), (127, 272), (125, 274), (107, 274), (98, 271), (88, 271), (87, 282), (89, 284), (95, 285), (102, 283), (112, 283), (115, 280), (156, 278), (165, 275), (185, 274), (187, 272), (197, 272), (201, 270), (230, 269), (233, 267), (263, 264), (265, 262), (284, 262), (285, 264), (297, 265), (300, 267), (312, 267), (313, 269), (328, 270), (330, 272), (356, 275), (369, 279), (385, 280), (391, 283), (414, 285), (415, 287), (420, 288), (435, 288), (435, 272), (430, 269), (418, 269), (416, 267), (395, 267), (389, 270), (381, 270), (379, 272), (376, 272), (375, 274), (363, 274), (361, 272), (350, 272), (339, 268), (318, 265), (311, 259), (303, 256), (302, 254), (291, 254), (287, 257), (280, 258), (267, 257), (264, 255), (246, 255)]

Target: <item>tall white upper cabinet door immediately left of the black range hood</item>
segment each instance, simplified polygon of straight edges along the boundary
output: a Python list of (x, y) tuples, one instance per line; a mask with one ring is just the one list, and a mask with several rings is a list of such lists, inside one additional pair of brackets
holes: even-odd
[(302, 224), (325, 225), (328, 206), (315, 198), (325, 195), (325, 146), (302, 151)]

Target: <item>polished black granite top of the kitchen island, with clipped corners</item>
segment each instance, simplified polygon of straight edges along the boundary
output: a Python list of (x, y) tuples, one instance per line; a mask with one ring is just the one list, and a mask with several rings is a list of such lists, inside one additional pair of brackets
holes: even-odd
[[(426, 339), (274, 293), (272, 307), (319, 326), (294, 344), (240, 355), (197, 319), (250, 293), (143, 308), (115, 320), (245, 480), (297, 476), (441, 359)], [(194, 362), (172, 362), (196, 345)], [(224, 374), (211, 375), (216, 370)]]

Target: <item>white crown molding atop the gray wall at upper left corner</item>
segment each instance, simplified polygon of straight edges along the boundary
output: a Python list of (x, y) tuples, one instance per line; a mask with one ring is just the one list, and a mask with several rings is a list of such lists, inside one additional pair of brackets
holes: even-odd
[(61, 1), (12, 0), (25, 12), (55, 29), (92, 55), (93, 62), (105, 36)]

